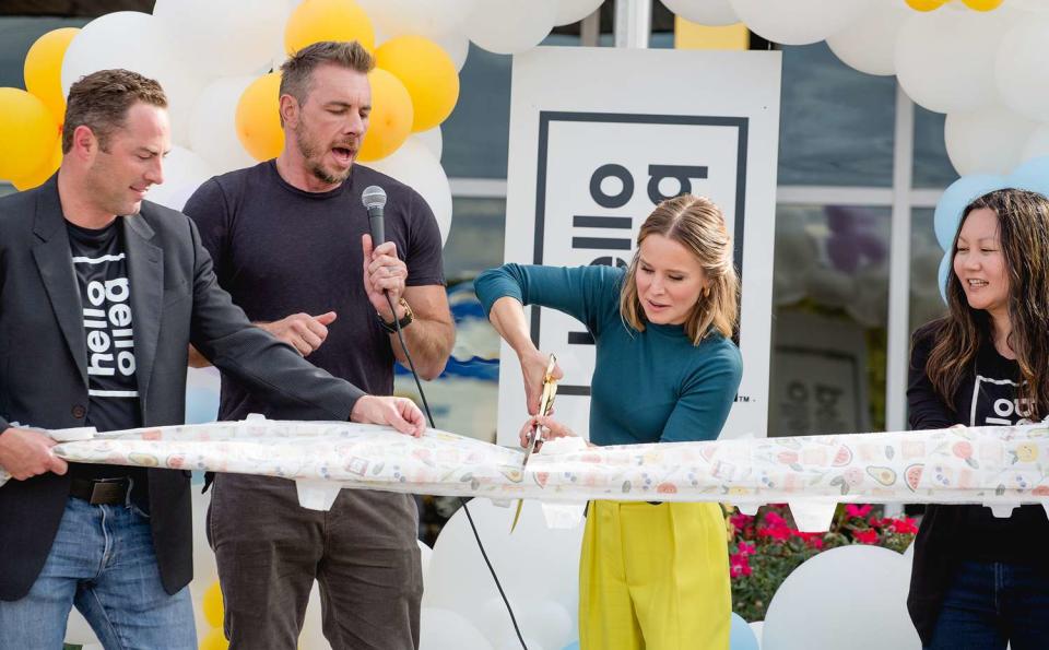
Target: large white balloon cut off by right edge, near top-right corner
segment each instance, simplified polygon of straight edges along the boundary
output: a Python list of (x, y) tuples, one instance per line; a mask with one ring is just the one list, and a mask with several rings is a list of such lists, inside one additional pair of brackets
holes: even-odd
[(1049, 119), (1049, 17), (1018, 23), (1005, 33), (994, 71), (1005, 105), (1033, 120)]

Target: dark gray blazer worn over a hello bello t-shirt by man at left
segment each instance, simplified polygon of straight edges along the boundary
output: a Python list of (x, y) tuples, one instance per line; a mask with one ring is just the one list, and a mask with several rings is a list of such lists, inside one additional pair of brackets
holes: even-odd
[[(0, 432), (10, 422), (83, 426), (87, 358), (58, 176), (0, 198)], [(302, 419), (347, 419), (363, 393), (311, 366), (252, 326), (219, 287), (193, 223), (144, 201), (119, 217), (131, 281), (143, 426), (181, 424), (188, 344), (223, 373)], [(189, 474), (149, 470), (153, 543), (165, 589), (192, 578)], [(25, 595), (39, 575), (69, 495), (68, 476), (0, 487), (0, 600)]]

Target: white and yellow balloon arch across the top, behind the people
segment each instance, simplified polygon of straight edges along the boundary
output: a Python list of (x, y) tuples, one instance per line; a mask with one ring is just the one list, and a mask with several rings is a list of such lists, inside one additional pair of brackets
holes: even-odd
[[(181, 208), (213, 174), (275, 156), (287, 52), (322, 39), (373, 51), (374, 113), (361, 161), (416, 185), (447, 237), (451, 198), (440, 123), (459, 96), (470, 42), (497, 54), (534, 47), (601, 0), (157, 0), (83, 28), (42, 36), (25, 58), (25, 91), (0, 88), (0, 179), (17, 189), (61, 159), (64, 96), (81, 75), (133, 69), (170, 101), (175, 149), (152, 199)], [(826, 40), (849, 66), (895, 74), (919, 105), (947, 114), (947, 154), (960, 175), (1007, 174), (1049, 154), (1049, 3), (1041, 0), (665, 0), (704, 25), (743, 22), (785, 45)], [(276, 71), (276, 72), (274, 72)], [(412, 145), (411, 143), (415, 143)], [(394, 154), (400, 155), (394, 155)]]

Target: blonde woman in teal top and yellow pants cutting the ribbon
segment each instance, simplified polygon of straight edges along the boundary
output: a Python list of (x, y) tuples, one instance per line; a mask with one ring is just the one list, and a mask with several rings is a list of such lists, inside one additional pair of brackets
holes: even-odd
[[(731, 238), (709, 200), (684, 194), (660, 203), (625, 271), (507, 264), (482, 273), (475, 288), (517, 352), (529, 413), (539, 409), (547, 356), (531, 341), (523, 305), (541, 305), (581, 321), (597, 344), (591, 444), (720, 434), (742, 362), (731, 341), (738, 297)], [(535, 422), (547, 438), (571, 435), (553, 418), (535, 417), (522, 438)], [(728, 548), (717, 504), (593, 501), (582, 544), (581, 649), (728, 649)]]

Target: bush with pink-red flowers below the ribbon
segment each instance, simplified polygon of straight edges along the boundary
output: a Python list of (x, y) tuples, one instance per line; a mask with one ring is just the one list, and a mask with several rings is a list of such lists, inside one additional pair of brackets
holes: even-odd
[(732, 610), (746, 621), (764, 621), (773, 594), (798, 565), (813, 555), (848, 544), (871, 544), (903, 553), (918, 533), (914, 519), (879, 517), (873, 506), (838, 508), (830, 530), (799, 532), (785, 505), (770, 505), (756, 517), (730, 511), (729, 574)]

